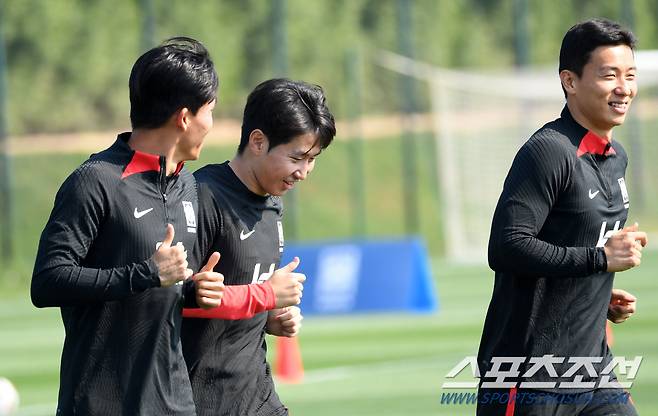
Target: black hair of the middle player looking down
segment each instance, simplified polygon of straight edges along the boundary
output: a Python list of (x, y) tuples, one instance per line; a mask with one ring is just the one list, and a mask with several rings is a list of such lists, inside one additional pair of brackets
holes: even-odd
[(320, 148), (325, 149), (336, 135), (334, 116), (322, 88), (285, 78), (262, 82), (249, 94), (238, 154), (242, 154), (256, 129), (267, 136), (268, 150), (306, 133), (315, 134)]

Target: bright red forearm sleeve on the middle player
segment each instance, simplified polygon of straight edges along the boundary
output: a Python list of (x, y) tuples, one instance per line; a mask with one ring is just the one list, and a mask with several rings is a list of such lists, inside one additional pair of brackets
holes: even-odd
[(226, 286), (222, 303), (212, 309), (183, 309), (186, 318), (248, 319), (274, 309), (276, 297), (270, 282)]

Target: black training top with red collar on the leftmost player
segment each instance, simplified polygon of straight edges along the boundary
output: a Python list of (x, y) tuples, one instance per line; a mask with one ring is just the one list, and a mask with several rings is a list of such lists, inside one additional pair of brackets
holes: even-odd
[(150, 257), (174, 226), (196, 241), (196, 186), (178, 166), (133, 151), (130, 133), (64, 182), (39, 243), (32, 301), (66, 331), (58, 415), (194, 415), (180, 343), (181, 285), (160, 287)]

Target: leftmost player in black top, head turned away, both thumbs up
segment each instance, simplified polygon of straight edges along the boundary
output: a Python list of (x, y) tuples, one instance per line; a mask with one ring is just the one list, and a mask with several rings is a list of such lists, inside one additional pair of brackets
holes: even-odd
[[(132, 132), (64, 182), (45, 226), (32, 302), (66, 331), (58, 415), (195, 415), (183, 359), (181, 283), (192, 275), (196, 185), (183, 167), (212, 127), (218, 85), (207, 50), (173, 38), (130, 74)], [(213, 261), (218, 254), (214, 254)], [(215, 307), (222, 276), (195, 276)], [(195, 302), (196, 301), (196, 302)]]

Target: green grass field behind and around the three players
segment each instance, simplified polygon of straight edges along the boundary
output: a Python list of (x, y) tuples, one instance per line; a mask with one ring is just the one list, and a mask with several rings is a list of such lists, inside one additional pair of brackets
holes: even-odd
[[(429, 137), (420, 137), (423, 152)], [(403, 232), (400, 144), (365, 143), (368, 189), (366, 234), (376, 238)], [(233, 148), (208, 148), (191, 164), (230, 158)], [(351, 209), (349, 146), (332, 145), (322, 155), (311, 180), (299, 192), (300, 237), (348, 237)], [(421, 236), (433, 258), (444, 244), (438, 202), (426, 155), (419, 158)], [(36, 309), (28, 285), (39, 234), (54, 194), (86, 155), (29, 155), (14, 159), (14, 250), (10, 264), (0, 264), (0, 377), (12, 380), (21, 395), (21, 415), (51, 415), (57, 399), (63, 328), (59, 310)], [(650, 172), (649, 172), (650, 173)], [(649, 174), (648, 173), (648, 174)], [(652, 184), (655, 186), (655, 184)], [(658, 193), (656, 193), (658, 194)], [(648, 195), (650, 201), (655, 195)], [(327, 198), (329, 196), (329, 198)], [(656, 224), (655, 205), (640, 213)], [(384, 208), (384, 209), (382, 209)], [(637, 218), (638, 215), (632, 215)], [(279, 385), (293, 415), (470, 415), (473, 405), (441, 405), (444, 376), (465, 356), (475, 355), (489, 301), (493, 274), (482, 265), (433, 261), (440, 311), (434, 315), (367, 315), (309, 318), (300, 338), (306, 370), (298, 385)], [(647, 252), (637, 270), (619, 274), (617, 287), (639, 297), (639, 311), (615, 327), (618, 356), (644, 357), (631, 389), (643, 415), (658, 414), (658, 252)], [(271, 353), (273, 351), (271, 350)], [(451, 392), (451, 391), (449, 391)]]

